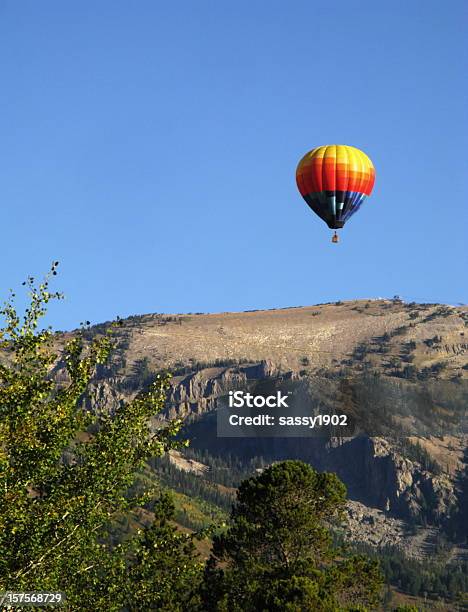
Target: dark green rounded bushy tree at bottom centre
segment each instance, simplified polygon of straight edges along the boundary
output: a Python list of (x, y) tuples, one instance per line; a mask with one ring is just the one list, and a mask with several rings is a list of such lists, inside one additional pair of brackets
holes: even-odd
[[(239, 487), (216, 536), (202, 599), (207, 610), (364, 610), (378, 600), (378, 564), (336, 548), (331, 523), (346, 489), (301, 461), (273, 464)], [(361, 606), (361, 607), (360, 607)]]

